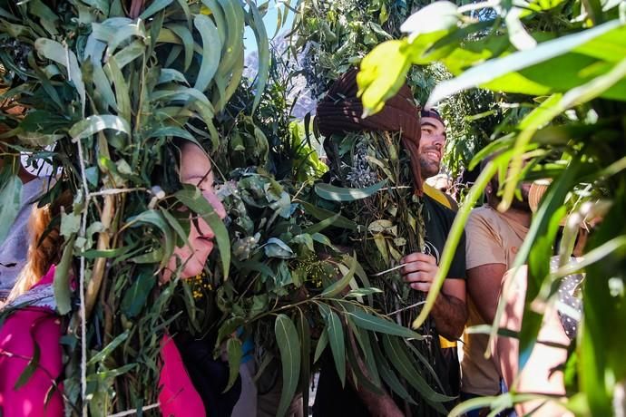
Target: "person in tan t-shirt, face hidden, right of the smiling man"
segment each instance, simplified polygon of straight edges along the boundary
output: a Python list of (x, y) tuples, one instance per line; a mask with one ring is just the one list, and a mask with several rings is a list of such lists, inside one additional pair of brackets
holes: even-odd
[[(498, 183), (492, 179), (485, 189), (487, 204), (474, 208), (465, 226), (467, 295), (469, 318), (467, 327), (491, 324), (494, 321), (504, 273), (513, 267), (531, 222), (528, 206), (529, 184), (521, 187), (522, 200), (515, 199), (506, 212), (497, 211)], [(500, 373), (494, 363), (484, 357), (488, 335), (464, 336), (461, 362), (461, 398), (496, 395), (501, 392)], [(469, 413), (481, 415), (479, 411)]]

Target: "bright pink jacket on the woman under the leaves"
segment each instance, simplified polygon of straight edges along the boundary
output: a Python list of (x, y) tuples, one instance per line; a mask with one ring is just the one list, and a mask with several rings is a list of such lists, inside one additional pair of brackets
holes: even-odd
[[(63, 373), (59, 342), (64, 329), (55, 312), (53, 281), (54, 266), (26, 294), (15, 299), (11, 305), (25, 306), (16, 309), (0, 327), (0, 415), (3, 417), (64, 415), (63, 384), (59, 381)], [(37, 366), (22, 383), (20, 376), (35, 356), (35, 345), (39, 350)], [(163, 415), (206, 415), (181, 354), (168, 335), (161, 340), (161, 359), (159, 402)], [(16, 387), (18, 382), (20, 386)]]

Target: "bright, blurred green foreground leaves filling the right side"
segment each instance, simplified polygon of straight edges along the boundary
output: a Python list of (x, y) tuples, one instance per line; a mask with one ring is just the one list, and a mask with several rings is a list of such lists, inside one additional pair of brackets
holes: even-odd
[[(497, 140), (474, 157), (473, 165), (496, 150), (502, 152), (470, 191), (445, 251), (455, 247), (469, 209), (496, 171), (507, 178), (501, 209), (511, 203), (520, 180), (553, 179), (516, 258), (517, 265), (529, 265), (523, 327), (519, 335), (520, 357), (527, 358), (543, 315), (536, 307), (537, 302), (543, 304), (553, 296), (546, 290), (555, 279), (549, 271), (549, 257), (556, 226), (568, 211), (565, 207), (570, 216), (577, 218), (603, 217), (602, 225), (586, 247), (583, 325), (575, 351), (579, 358), (576, 370), (580, 392), (571, 396), (568, 408), (580, 415), (619, 414), (622, 404), (615, 402), (615, 395), (622, 389), (626, 375), (623, 366), (613, 357), (621, 349), (619, 341), (624, 335), (623, 327), (616, 327), (624, 319), (623, 292), (616, 288), (624, 279), (624, 257), (619, 243), (623, 239), (623, 222), (617, 220), (617, 213), (621, 213), (624, 201), (624, 147), (620, 138), (624, 135), (626, 67), (621, 55), (610, 51), (623, 50), (626, 46), (623, 4), (531, 2), (521, 9), (502, 3), (494, 8), (491, 14), (494, 19), (476, 22), (465, 15), (483, 7), (488, 5), (458, 8), (450, 5), (443, 11), (425, 7), (412, 16), (403, 27), (409, 37), (396, 41), (401, 43), (396, 61), (388, 59), (383, 45), (363, 60), (359, 86), (364, 91), (364, 105), (375, 110), (391, 93), (376, 87), (379, 83), (395, 85), (393, 80), (385, 79), (385, 74), (395, 73), (390, 66), (400, 68), (402, 74), (408, 68), (406, 63), (433, 61), (444, 63), (455, 78), (439, 84), (429, 102), (438, 102), (476, 85), (494, 92), (534, 96), (533, 102), (517, 99), (520, 105), (532, 103), (532, 111), (525, 114), (509, 134), (498, 132)], [(426, 22), (446, 18), (452, 19), (450, 24), (427, 32), (419, 29), (425, 27)], [(484, 35), (473, 37), (474, 34)], [(559, 71), (554, 71), (555, 68)], [(367, 94), (368, 91), (372, 93)], [(525, 170), (522, 169), (523, 157), (532, 160)], [(509, 165), (511, 168), (507, 171)], [(595, 192), (583, 191), (589, 189)], [(598, 204), (599, 195), (602, 204)], [(595, 205), (585, 204), (589, 200)], [(561, 250), (561, 258), (568, 259), (571, 246), (562, 245)], [(442, 259), (440, 282), (449, 260), (445, 256)], [(581, 267), (563, 264), (562, 271)], [(422, 323), (434, 297), (435, 293), (429, 295), (416, 325)], [(607, 320), (611, 321), (611, 331), (607, 330)], [(499, 323), (499, 316), (494, 323)], [(497, 332), (496, 327), (493, 326), (492, 336)], [(602, 336), (609, 333), (614, 343)], [(521, 363), (523, 365), (523, 359)], [(602, 375), (611, 377), (607, 379)], [(513, 398), (514, 401), (529, 400), (523, 395)], [(474, 403), (476, 405), (478, 402)], [(455, 412), (462, 410), (465, 406)]]

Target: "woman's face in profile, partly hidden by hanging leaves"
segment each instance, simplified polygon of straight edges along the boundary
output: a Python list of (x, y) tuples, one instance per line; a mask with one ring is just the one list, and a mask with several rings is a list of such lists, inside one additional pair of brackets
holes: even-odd
[[(220, 218), (226, 217), (226, 210), (213, 189), (213, 172), (209, 157), (200, 147), (191, 142), (185, 143), (181, 151), (181, 182), (198, 187), (218, 216)], [(163, 271), (162, 280), (164, 282), (169, 281), (172, 272), (176, 270), (177, 257), (181, 259), (183, 266), (181, 278), (190, 278), (202, 272), (207, 257), (213, 250), (213, 238), (215, 237), (213, 230), (203, 218), (196, 216), (195, 213), (191, 216), (194, 220), (191, 221), (189, 245), (174, 249), (170, 262)]]

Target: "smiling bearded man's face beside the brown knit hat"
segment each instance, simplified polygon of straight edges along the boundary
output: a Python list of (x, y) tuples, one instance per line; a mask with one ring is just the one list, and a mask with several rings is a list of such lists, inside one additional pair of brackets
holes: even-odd
[(445, 147), (444, 124), (434, 117), (422, 118), (422, 138), (419, 141), (419, 166), (422, 179), (439, 173)]

